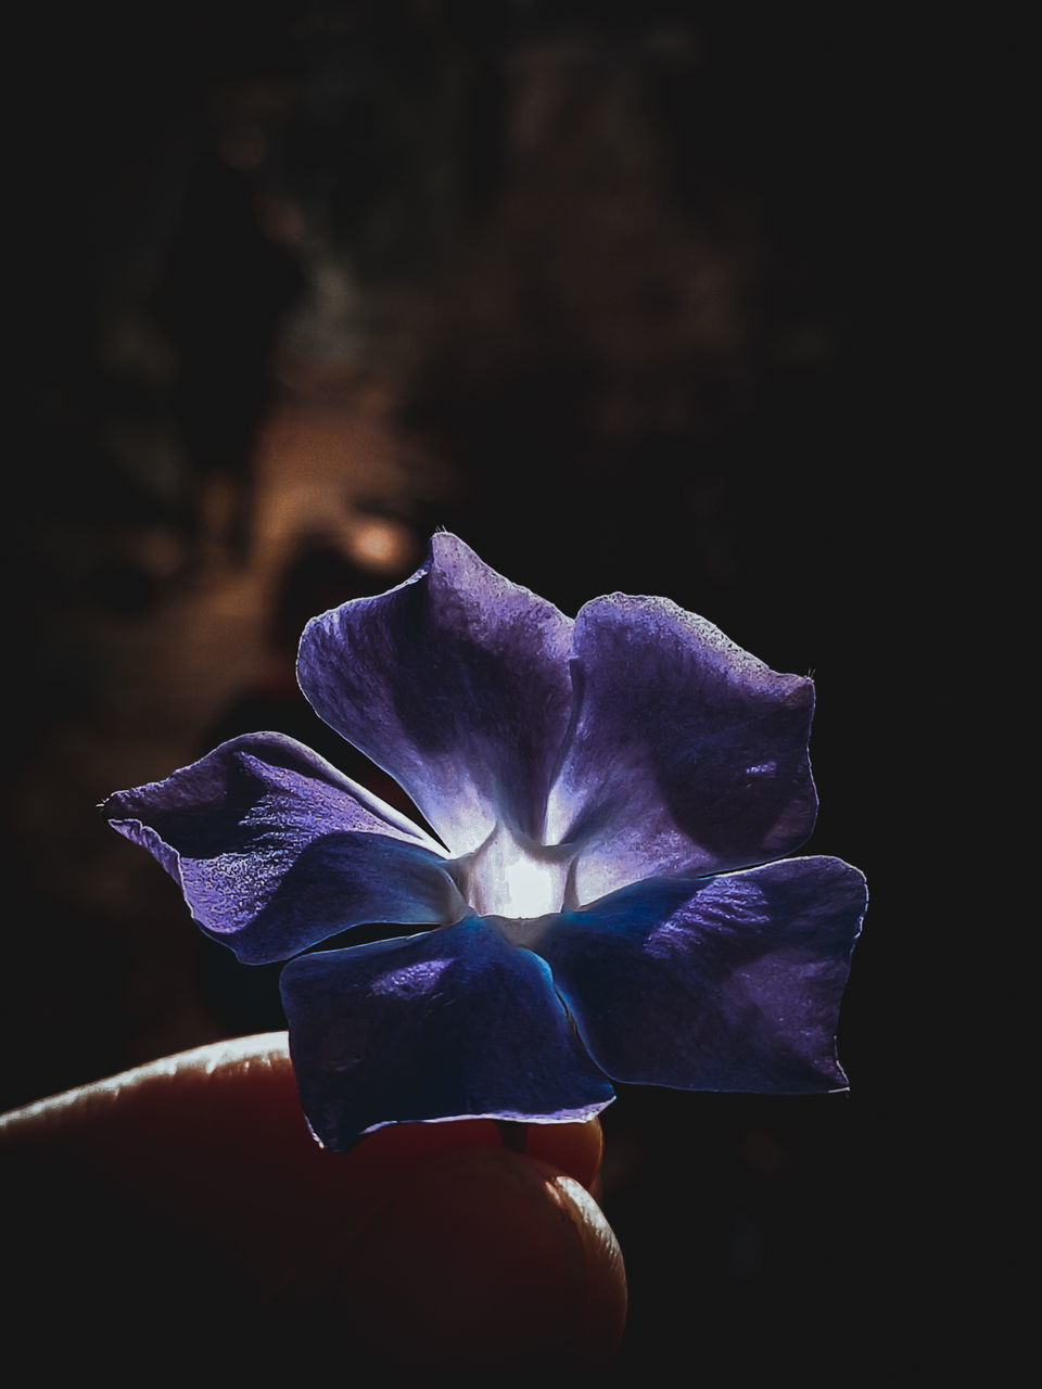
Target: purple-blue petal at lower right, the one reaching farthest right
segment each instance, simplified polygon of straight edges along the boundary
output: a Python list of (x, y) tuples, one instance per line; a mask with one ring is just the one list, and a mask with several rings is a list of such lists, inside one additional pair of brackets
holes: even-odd
[(829, 1090), (846, 1085), (835, 1033), (866, 901), (838, 858), (659, 878), (559, 918), (539, 953), (615, 1081)]

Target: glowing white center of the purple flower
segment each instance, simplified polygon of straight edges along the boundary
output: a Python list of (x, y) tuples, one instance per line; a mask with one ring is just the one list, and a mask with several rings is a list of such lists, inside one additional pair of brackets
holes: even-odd
[(532, 920), (561, 911), (574, 850), (547, 849), (496, 825), (472, 854), (456, 860), (463, 896), (479, 917)]

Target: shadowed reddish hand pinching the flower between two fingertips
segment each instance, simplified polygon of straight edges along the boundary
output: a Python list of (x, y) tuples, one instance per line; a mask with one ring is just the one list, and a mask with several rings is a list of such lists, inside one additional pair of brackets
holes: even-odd
[[(546, 1268), (535, 1278), (536, 1265), (581, 1268), (572, 1297), (585, 1310), (568, 1322), (572, 1340), (584, 1354), (617, 1342), (625, 1308), (621, 1258), (585, 1190), (596, 1183), (600, 1143), (596, 1121), (504, 1129), (472, 1120), (393, 1125), (350, 1153), (328, 1153), (300, 1113), (285, 1033), (181, 1053), (0, 1120), (0, 1146), (21, 1171), (17, 1185), (26, 1195), (29, 1225), (63, 1245), (58, 1282), (69, 1296), (82, 1297), (88, 1281), (86, 1272), (71, 1272), (78, 1260), (92, 1265), (90, 1286), (104, 1288), (90, 1249), (96, 1225), (115, 1240), (110, 1281), (118, 1297), (119, 1265), (140, 1263), (136, 1235), (154, 1222), (164, 1274), (186, 1265), (174, 1292), (169, 1276), (163, 1279), (172, 1303), (178, 1289), (190, 1290), (196, 1251), (203, 1251), (203, 1263), (217, 1258), (233, 1286), (239, 1315), (278, 1307), (278, 1317), (292, 1321), (308, 1303), (329, 1307), (340, 1297), (364, 1340), (381, 1324), (379, 1297), (358, 1289), (375, 1286), (365, 1270), (382, 1261), (402, 1275), (393, 1297), (386, 1290), (385, 1328), (388, 1318), (420, 1325), (440, 1317), (449, 1342), (456, 1328), (457, 1353), (467, 1354), (488, 1338), (467, 1331), (458, 1296), (438, 1310), (445, 1282), (428, 1286), (411, 1276), (427, 1256), (456, 1261), (457, 1289), (468, 1270), (485, 1289), (499, 1279), (503, 1297), (527, 1308), (532, 1345), (550, 1335)], [(525, 1156), (529, 1145), (557, 1164)], [(465, 1183), (452, 1172), (467, 1172)], [(457, 1214), (446, 1231), (442, 1217), (453, 1201)], [(518, 1215), (520, 1226), (511, 1224)], [(496, 1228), (502, 1239), (489, 1257), (483, 1232)], [(53, 1289), (50, 1268), (42, 1285), (42, 1295)], [(467, 1306), (477, 1306), (475, 1299)], [(567, 1308), (567, 1299), (554, 1306)], [(603, 1308), (602, 1322), (590, 1307)], [(343, 1325), (345, 1317), (338, 1321)], [(482, 1325), (493, 1326), (495, 1318)], [(404, 1353), (400, 1338), (385, 1342), (383, 1349), (370, 1342), (370, 1353)], [(433, 1353), (429, 1338), (427, 1345)], [(445, 1338), (439, 1345), (438, 1354), (447, 1354)]]

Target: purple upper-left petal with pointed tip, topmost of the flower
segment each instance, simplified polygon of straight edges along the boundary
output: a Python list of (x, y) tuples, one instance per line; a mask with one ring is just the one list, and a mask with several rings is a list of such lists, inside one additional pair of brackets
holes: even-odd
[(297, 675), (315, 711), (464, 854), (499, 821), (542, 829), (571, 710), (571, 626), (438, 533), (406, 583), (307, 625)]

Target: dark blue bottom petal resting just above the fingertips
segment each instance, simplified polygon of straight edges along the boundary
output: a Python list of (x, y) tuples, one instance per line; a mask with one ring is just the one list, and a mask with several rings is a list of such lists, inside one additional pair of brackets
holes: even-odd
[(481, 917), (301, 956), (281, 986), (300, 1103), (326, 1147), (418, 1120), (584, 1120), (613, 1099), (545, 961)]

